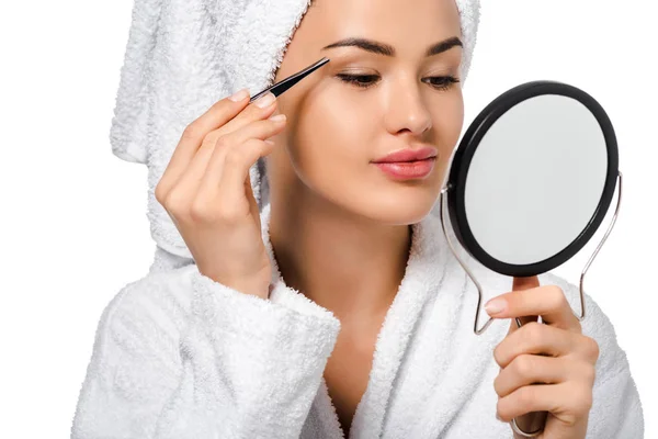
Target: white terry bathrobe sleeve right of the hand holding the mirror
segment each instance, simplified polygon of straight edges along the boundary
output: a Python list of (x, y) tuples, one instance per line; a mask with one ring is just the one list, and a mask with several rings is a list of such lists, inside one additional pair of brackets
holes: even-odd
[[(563, 278), (545, 274), (559, 285), (575, 313), (580, 314), (580, 290)], [(626, 352), (620, 347), (614, 326), (597, 302), (585, 294), (582, 334), (599, 344), (587, 439), (643, 439), (644, 415), (631, 374)]]

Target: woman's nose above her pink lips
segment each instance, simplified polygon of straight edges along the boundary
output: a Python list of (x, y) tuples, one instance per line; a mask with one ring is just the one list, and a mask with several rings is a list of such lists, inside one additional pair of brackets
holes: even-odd
[(392, 134), (407, 130), (415, 135), (421, 135), (432, 127), (432, 117), (417, 87), (398, 87), (392, 93), (386, 127)]

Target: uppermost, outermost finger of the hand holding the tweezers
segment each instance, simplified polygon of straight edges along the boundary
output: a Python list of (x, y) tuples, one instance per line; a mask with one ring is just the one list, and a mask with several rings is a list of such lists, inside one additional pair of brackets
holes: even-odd
[(216, 130), (238, 115), (248, 104), (249, 91), (240, 90), (238, 100), (232, 97), (226, 97), (215, 102), (205, 113), (190, 123), (175, 147), (167, 169), (158, 182), (159, 192), (168, 194), (171, 188), (179, 180), (181, 175), (188, 169), (196, 151), (201, 147), (205, 136), (213, 130)]

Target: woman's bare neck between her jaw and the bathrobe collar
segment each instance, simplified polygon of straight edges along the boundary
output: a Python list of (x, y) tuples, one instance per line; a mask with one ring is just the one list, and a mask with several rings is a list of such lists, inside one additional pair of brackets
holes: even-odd
[(282, 204), (271, 206), (269, 232), (285, 283), (343, 325), (381, 318), (405, 275), (411, 227), (383, 225), (318, 200), (313, 206)]

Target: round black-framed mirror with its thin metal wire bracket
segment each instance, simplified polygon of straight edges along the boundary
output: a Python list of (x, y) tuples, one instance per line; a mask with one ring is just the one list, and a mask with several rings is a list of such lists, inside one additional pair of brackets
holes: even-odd
[[(585, 91), (556, 81), (533, 81), (508, 90), (474, 120), (457, 148), (441, 191), (445, 212), (464, 249), (485, 267), (510, 277), (544, 273), (574, 257), (601, 225), (619, 178), (614, 217), (580, 277), (616, 219), (622, 173), (614, 130), (603, 108)], [(521, 320), (517, 318), (521, 327)]]

